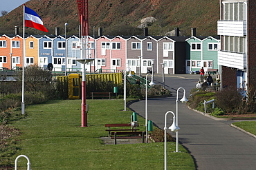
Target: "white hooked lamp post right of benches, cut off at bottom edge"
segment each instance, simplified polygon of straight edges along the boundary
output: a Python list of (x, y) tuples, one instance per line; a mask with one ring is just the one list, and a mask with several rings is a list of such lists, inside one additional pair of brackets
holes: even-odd
[(174, 112), (172, 111), (167, 111), (165, 113), (165, 127), (164, 127), (164, 130), (165, 130), (165, 170), (167, 170), (167, 146), (166, 146), (166, 140), (167, 140), (167, 137), (166, 137), (166, 130), (167, 130), (167, 114), (172, 114), (173, 115), (173, 122), (172, 122), (172, 126), (170, 126), (168, 129), (170, 129), (171, 131), (175, 132), (175, 131), (179, 131), (179, 127), (178, 125), (176, 125), (175, 123), (175, 114)]

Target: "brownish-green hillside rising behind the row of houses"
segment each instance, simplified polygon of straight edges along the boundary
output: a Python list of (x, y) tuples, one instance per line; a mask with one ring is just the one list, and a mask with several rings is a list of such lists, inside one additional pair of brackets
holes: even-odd
[[(64, 23), (67, 34), (78, 34), (76, 0), (30, 0), (26, 6), (39, 14), (50, 34), (55, 34), (55, 27), (64, 34)], [(89, 0), (90, 34), (93, 27), (95, 32), (102, 27), (105, 35), (140, 35), (143, 29), (137, 27), (145, 17), (156, 19), (148, 25), (149, 35), (165, 35), (176, 27), (183, 35), (190, 35), (190, 28), (196, 28), (197, 35), (216, 35), (219, 0)], [(22, 19), (23, 6), (0, 17), (0, 34), (14, 33), (15, 25), (21, 34)], [(33, 28), (26, 28), (26, 33), (44, 34)]]

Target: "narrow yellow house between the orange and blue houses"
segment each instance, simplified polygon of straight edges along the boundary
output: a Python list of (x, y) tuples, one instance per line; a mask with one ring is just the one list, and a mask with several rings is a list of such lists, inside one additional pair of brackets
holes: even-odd
[(30, 35), (25, 39), (26, 43), (26, 59), (25, 59), (25, 67), (28, 65), (39, 65), (38, 64), (38, 56), (39, 56), (39, 48), (38, 42), (39, 40)]

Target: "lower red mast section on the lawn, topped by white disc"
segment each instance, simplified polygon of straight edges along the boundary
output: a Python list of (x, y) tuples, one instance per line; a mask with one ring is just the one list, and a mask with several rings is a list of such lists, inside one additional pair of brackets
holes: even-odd
[(86, 76), (85, 76), (85, 64), (93, 61), (94, 59), (76, 59), (83, 65), (82, 67), (82, 125), (81, 127), (87, 127), (87, 113), (89, 105), (86, 105)]

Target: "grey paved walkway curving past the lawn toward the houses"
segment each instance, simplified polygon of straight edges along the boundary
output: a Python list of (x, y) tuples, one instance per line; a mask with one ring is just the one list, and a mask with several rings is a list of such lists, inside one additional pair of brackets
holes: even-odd
[[(164, 127), (166, 111), (176, 112), (176, 89), (184, 87), (189, 96), (190, 89), (196, 85), (198, 75), (165, 76), (165, 85), (174, 96), (168, 98), (149, 98), (147, 102), (148, 119), (160, 128)], [(154, 76), (161, 83), (161, 76)], [(179, 93), (182, 98), (183, 91)], [(129, 106), (141, 116), (145, 116), (145, 100)], [(179, 142), (190, 151), (196, 162), (196, 169), (256, 169), (256, 138), (230, 126), (232, 121), (214, 120), (188, 109), (179, 103)], [(167, 120), (168, 126), (172, 120)], [(176, 136), (172, 133), (172, 136)], [(179, 154), (179, 153), (177, 153)]]

